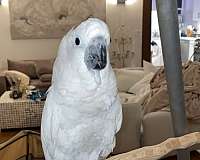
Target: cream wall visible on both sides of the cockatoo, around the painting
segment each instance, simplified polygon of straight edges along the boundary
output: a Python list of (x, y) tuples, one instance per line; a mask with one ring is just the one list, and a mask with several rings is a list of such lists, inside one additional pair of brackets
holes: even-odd
[[(128, 29), (125, 35), (131, 37), (133, 42), (128, 50), (130, 53), (133, 51), (134, 55), (127, 58), (128, 61), (125, 62), (127, 66), (141, 65), (142, 13), (142, 0), (136, 0), (130, 6), (107, 4), (106, 19), (111, 35), (116, 35), (120, 26), (125, 25)], [(8, 7), (0, 6), (0, 70), (7, 67), (7, 59), (48, 59), (56, 56), (59, 39), (11, 40), (9, 19)]]

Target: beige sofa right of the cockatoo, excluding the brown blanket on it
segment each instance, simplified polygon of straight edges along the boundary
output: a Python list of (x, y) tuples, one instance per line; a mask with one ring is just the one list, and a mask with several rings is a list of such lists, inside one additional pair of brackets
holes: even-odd
[[(157, 111), (143, 115), (141, 105), (143, 99), (137, 94), (130, 93), (130, 88), (141, 81), (151, 72), (149, 67), (134, 69), (115, 69), (119, 94), (123, 104), (123, 125), (117, 135), (117, 146), (114, 153), (122, 153), (143, 146), (155, 145), (173, 137), (171, 114), (169, 111)], [(150, 77), (149, 77), (150, 78)], [(145, 81), (148, 82), (148, 81)], [(140, 88), (143, 91), (147, 84)], [(140, 92), (138, 92), (140, 94)], [(143, 94), (143, 96), (146, 96)], [(132, 127), (132, 128), (131, 128)], [(188, 121), (188, 131), (200, 131), (198, 122)]]

